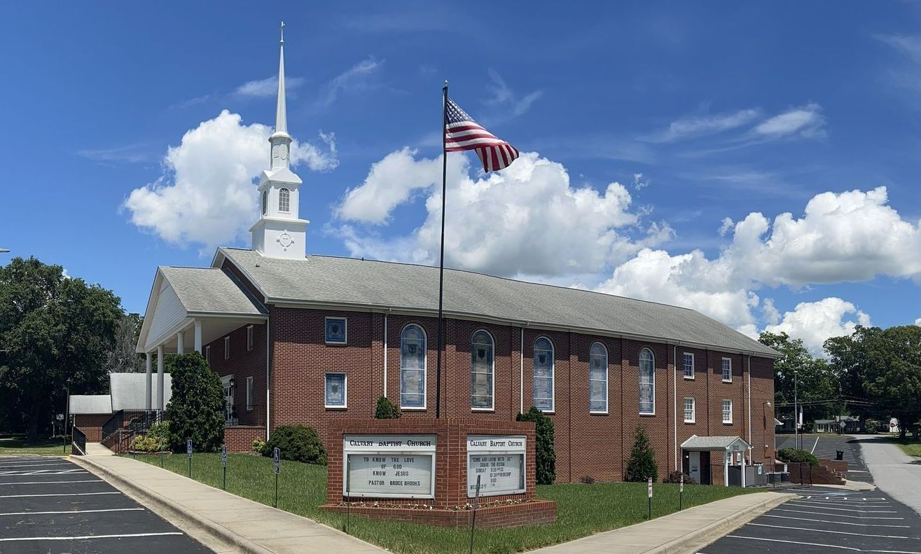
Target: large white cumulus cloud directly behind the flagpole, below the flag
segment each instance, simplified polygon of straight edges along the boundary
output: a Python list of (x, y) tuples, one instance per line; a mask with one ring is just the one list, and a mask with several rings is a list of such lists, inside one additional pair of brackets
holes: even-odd
[[(449, 156), (445, 261), (499, 275), (554, 278), (598, 273), (640, 248), (671, 237), (668, 225), (641, 225), (619, 183), (574, 187), (565, 167), (523, 153), (501, 172), (473, 178), (467, 156)], [(353, 256), (437, 262), (441, 225), (441, 160), (402, 149), (371, 167), (348, 190), (337, 214), (357, 224), (385, 225), (392, 211), (425, 196), (426, 220), (412, 233), (382, 238), (372, 228), (343, 225)]]

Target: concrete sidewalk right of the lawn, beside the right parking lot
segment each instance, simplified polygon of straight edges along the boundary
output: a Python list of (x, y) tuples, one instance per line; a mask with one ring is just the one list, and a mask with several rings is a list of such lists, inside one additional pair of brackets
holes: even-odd
[(797, 496), (783, 492), (741, 494), (529, 554), (689, 554)]

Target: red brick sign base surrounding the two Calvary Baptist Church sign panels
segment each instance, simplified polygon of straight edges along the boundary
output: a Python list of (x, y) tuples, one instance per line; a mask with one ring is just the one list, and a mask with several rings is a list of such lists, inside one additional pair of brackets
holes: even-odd
[[(435, 498), (346, 497), (343, 491), (344, 435), (436, 435)], [(467, 496), (467, 436), (524, 436), (525, 491), (485, 496), (476, 513), (478, 527), (536, 525), (556, 521), (556, 502), (537, 498), (534, 489), (534, 424), (474, 419), (340, 420), (330, 429), (327, 503), (324, 510), (441, 526), (469, 526), (473, 500)]]

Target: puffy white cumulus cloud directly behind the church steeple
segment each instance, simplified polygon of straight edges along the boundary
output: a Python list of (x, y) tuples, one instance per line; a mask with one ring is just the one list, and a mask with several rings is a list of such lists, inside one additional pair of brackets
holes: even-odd
[[(160, 178), (128, 195), (123, 207), (131, 222), (178, 245), (212, 248), (240, 237), (257, 216), (253, 179), (268, 163), (271, 133), (227, 110), (202, 121), (169, 147)], [(295, 141), (292, 163), (314, 171), (336, 167), (332, 133), (321, 133), (321, 141), (325, 149)]]

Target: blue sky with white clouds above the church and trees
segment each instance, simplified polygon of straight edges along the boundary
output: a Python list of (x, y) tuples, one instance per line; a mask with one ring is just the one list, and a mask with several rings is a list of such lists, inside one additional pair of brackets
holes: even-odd
[(2, 6), (0, 246), (141, 312), (157, 265), (248, 247), (284, 18), (309, 253), (437, 262), (448, 78), (532, 153), (449, 156), (450, 265), (814, 351), (921, 317), (921, 7), (523, 6)]

